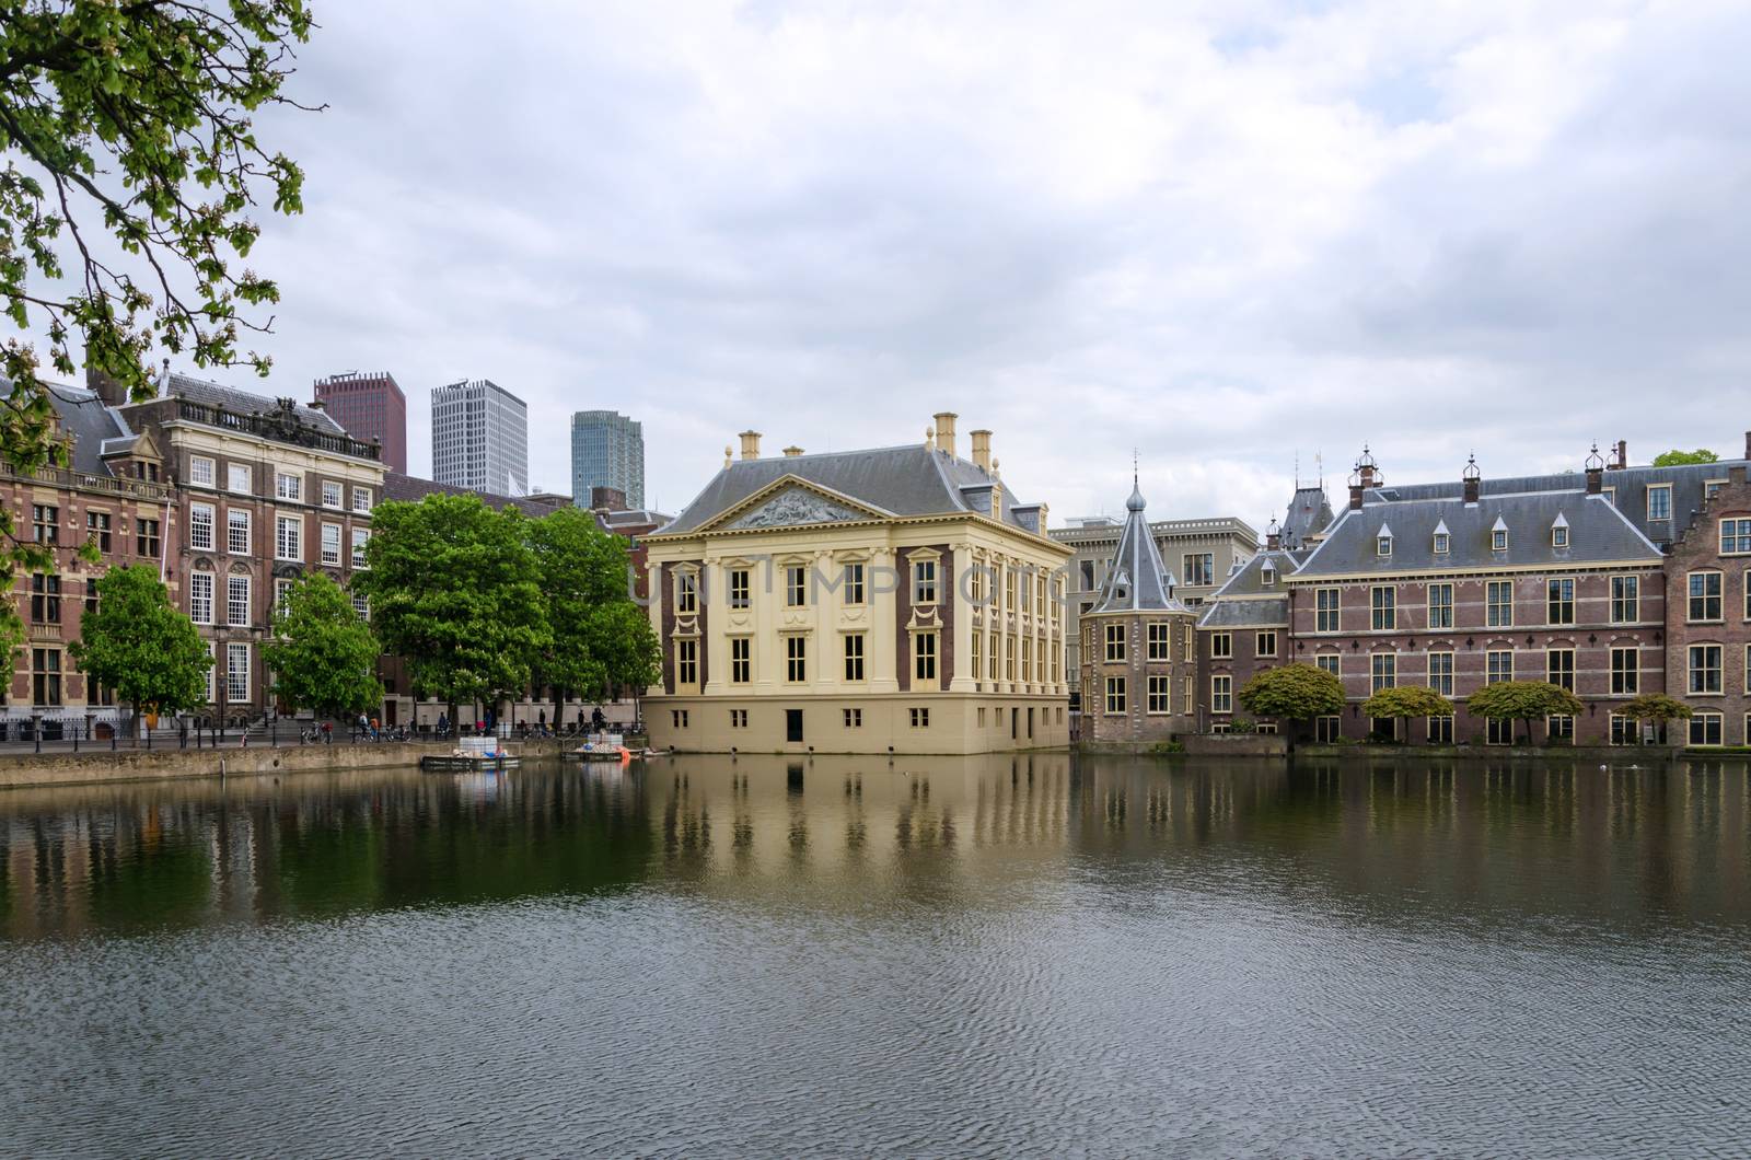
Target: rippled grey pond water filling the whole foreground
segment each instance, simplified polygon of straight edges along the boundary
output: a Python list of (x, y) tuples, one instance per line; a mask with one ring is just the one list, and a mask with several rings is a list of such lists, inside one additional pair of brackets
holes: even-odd
[(1740, 762), (0, 794), (5, 1155), (1728, 1155), (1747, 995)]

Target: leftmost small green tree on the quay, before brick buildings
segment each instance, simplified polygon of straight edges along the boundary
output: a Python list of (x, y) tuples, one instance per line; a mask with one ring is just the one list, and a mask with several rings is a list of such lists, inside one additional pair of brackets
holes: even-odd
[(135, 715), (144, 706), (180, 713), (207, 703), (214, 657), (194, 622), (170, 603), (170, 589), (145, 564), (110, 568), (98, 580), (98, 608), (86, 612), (68, 645), (88, 678), (116, 690)]

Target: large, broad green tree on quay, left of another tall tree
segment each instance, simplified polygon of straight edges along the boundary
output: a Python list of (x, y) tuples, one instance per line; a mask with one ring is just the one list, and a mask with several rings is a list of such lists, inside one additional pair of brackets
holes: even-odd
[(478, 496), (425, 496), (371, 513), (366, 571), (354, 591), (371, 601), (385, 652), (408, 666), (422, 696), (455, 720), (459, 701), (492, 701), (529, 687), (550, 641), (536, 557), (515, 508)]

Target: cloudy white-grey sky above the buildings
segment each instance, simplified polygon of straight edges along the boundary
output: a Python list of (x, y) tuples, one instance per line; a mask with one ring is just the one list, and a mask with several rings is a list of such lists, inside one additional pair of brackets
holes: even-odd
[(254, 265), (275, 385), (644, 422), (667, 510), (769, 450), (991, 428), (1054, 522), (1737, 454), (1744, 4), (319, 4)]

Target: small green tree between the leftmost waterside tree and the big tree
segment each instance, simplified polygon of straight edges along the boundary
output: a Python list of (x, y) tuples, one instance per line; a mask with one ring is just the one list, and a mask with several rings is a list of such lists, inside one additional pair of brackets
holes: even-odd
[(275, 694), (287, 704), (348, 718), (383, 703), (376, 636), (352, 598), (320, 571), (294, 584), (275, 608), (273, 636), (261, 657), (273, 669)]

